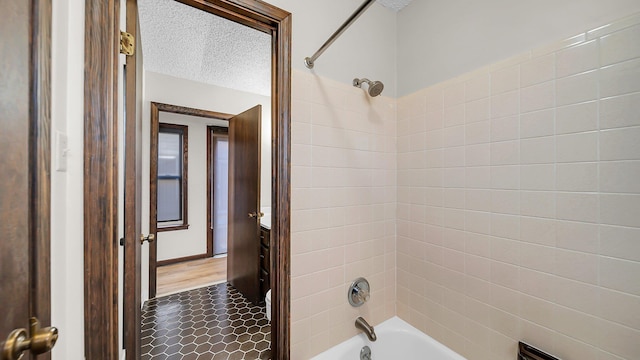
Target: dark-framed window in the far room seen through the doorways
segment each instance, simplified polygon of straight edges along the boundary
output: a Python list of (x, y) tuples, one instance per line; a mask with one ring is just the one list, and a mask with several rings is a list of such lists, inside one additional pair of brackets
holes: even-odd
[(187, 222), (187, 126), (160, 124), (158, 131), (158, 231), (181, 230)]

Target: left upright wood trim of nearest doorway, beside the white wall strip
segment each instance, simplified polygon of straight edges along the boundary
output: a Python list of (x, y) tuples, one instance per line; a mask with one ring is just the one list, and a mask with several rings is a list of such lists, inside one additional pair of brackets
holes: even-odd
[(85, 1), (84, 355), (118, 359), (120, 1)]

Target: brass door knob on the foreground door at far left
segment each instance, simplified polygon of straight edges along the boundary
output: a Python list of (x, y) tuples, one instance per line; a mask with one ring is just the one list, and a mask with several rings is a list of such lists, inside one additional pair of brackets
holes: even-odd
[(54, 327), (40, 328), (40, 322), (36, 318), (29, 319), (31, 338), (27, 330), (16, 329), (9, 334), (2, 346), (0, 360), (18, 360), (22, 358), (25, 350), (34, 355), (51, 351), (58, 340), (58, 329)]

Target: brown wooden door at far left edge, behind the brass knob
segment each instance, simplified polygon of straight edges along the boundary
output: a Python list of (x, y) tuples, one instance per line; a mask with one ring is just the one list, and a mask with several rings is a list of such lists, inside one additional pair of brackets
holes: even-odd
[[(50, 1), (0, 1), (0, 346), (51, 318)], [(23, 359), (30, 359), (25, 353)], [(49, 358), (49, 355), (39, 359)]]

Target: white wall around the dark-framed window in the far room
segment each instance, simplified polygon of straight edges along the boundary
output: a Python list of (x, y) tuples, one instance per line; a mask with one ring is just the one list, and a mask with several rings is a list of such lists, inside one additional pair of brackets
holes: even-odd
[(160, 112), (160, 122), (188, 126), (188, 224), (186, 230), (158, 232), (158, 261), (207, 252), (207, 126), (227, 121)]

